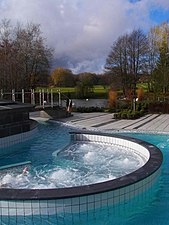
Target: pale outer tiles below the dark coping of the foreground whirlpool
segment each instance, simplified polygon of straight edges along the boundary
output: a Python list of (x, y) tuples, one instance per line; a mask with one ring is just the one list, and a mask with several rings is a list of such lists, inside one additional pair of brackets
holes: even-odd
[(107, 206), (115, 206), (119, 203), (126, 204), (128, 200), (140, 194), (143, 196), (142, 198), (146, 197), (146, 191), (151, 188), (158, 175), (159, 170), (132, 185), (94, 195), (54, 200), (0, 201), (0, 214), (1, 216), (28, 216), (83, 213)]

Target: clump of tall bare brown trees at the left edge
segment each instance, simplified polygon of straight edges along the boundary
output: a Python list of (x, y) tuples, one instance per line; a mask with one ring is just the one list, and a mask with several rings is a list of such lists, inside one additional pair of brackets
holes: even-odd
[[(45, 45), (40, 25), (0, 24), (0, 88), (29, 89), (48, 80), (52, 49)], [(45, 78), (45, 79), (44, 79)]]

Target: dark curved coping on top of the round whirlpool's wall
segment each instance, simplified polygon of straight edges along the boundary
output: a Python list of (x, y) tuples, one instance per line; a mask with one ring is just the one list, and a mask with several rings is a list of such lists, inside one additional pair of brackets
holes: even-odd
[(77, 187), (57, 188), (57, 189), (0, 189), (0, 200), (52, 200), (52, 199), (64, 199), (72, 197), (80, 197), (86, 195), (92, 195), (107, 191), (113, 191), (119, 188), (123, 188), (132, 185), (138, 181), (145, 179), (155, 173), (161, 166), (163, 161), (162, 152), (154, 145), (136, 139), (116, 134), (103, 134), (98, 132), (71, 132), (81, 134), (94, 134), (102, 136), (111, 136), (115, 138), (121, 138), (129, 140), (145, 147), (149, 153), (150, 158), (148, 162), (138, 170), (127, 174), (123, 177), (119, 177), (114, 180), (105, 181), (97, 184), (90, 184)]

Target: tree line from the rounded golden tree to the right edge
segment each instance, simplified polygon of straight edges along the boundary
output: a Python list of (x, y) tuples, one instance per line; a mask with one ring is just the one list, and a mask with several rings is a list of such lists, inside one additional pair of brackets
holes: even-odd
[(93, 85), (109, 85), (123, 90), (125, 97), (136, 96), (136, 84), (147, 82), (149, 92), (169, 91), (169, 24), (162, 23), (145, 34), (133, 30), (117, 38), (106, 58), (104, 74), (80, 73), (56, 68), (51, 74), (54, 86), (76, 86), (85, 92)]

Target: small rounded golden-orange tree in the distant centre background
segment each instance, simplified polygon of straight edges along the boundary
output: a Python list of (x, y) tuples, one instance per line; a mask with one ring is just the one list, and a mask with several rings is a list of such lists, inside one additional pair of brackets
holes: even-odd
[(61, 67), (52, 72), (51, 79), (56, 87), (73, 87), (75, 84), (72, 71)]

